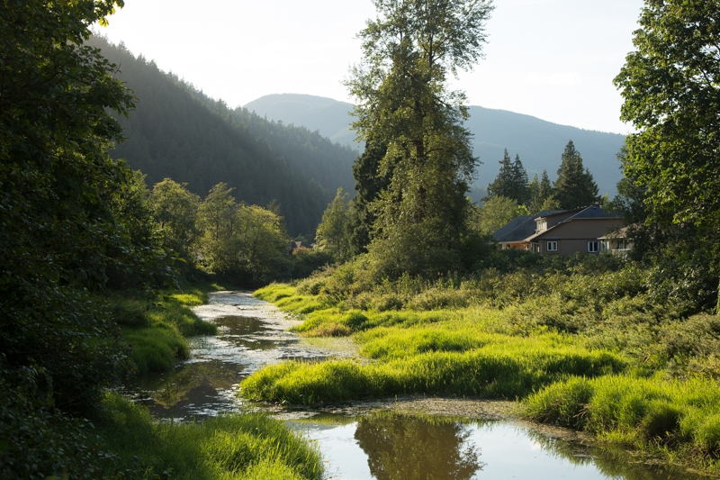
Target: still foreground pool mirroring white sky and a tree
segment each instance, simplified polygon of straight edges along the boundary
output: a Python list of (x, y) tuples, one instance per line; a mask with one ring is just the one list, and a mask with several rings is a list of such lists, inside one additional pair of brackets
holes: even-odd
[(318, 442), (332, 480), (699, 480), (525, 423), (376, 413), (290, 422)]

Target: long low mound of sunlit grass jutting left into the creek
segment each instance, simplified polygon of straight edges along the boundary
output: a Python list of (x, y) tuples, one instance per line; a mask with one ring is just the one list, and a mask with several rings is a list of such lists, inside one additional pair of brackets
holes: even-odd
[(625, 367), (602, 351), (509, 349), (432, 351), (383, 362), (285, 362), (265, 367), (241, 385), (250, 399), (311, 404), (394, 394), (481, 395), (515, 399), (567, 376), (599, 376)]

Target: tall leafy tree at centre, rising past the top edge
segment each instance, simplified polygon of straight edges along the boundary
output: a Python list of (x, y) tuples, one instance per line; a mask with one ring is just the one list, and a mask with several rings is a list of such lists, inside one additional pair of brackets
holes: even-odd
[[(462, 125), (464, 95), (448, 92), (446, 79), (482, 57), (491, 5), (374, 5), (378, 17), (359, 33), (363, 63), (347, 82), (358, 100), (358, 138), (387, 149), (379, 174), (390, 181), (370, 207), (376, 220), (369, 252), (383, 276), (437, 272), (456, 263), (468, 208), (464, 195), (476, 163)], [(417, 255), (409, 256), (410, 249)]]

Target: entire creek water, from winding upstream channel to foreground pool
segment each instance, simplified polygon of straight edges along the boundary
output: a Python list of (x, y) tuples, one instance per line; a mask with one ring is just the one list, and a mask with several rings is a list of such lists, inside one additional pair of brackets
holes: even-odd
[[(221, 412), (255, 411), (261, 407), (238, 397), (244, 377), (285, 359), (321, 361), (331, 356), (288, 331), (299, 322), (247, 292), (213, 293), (210, 303), (193, 311), (216, 323), (218, 335), (194, 338), (192, 358), (125, 389), (160, 419), (202, 420)], [(314, 410), (262, 408), (317, 444), (326, 480), (700, 478), (593, 446), (569, 431), (478, 415), (477, 402), (463, 402), (475, 413), (458, 417), (461, 401), (455, 401), (452, 417), (409, 412), (393, 402)]]

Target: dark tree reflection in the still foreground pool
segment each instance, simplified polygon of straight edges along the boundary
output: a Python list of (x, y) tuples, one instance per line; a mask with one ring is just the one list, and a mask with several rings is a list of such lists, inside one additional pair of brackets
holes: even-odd
[(357, 421), (355, 438), (377, 480), (469, 480), (482, 469), (480, 451), (458, 421), (383, 413)]

